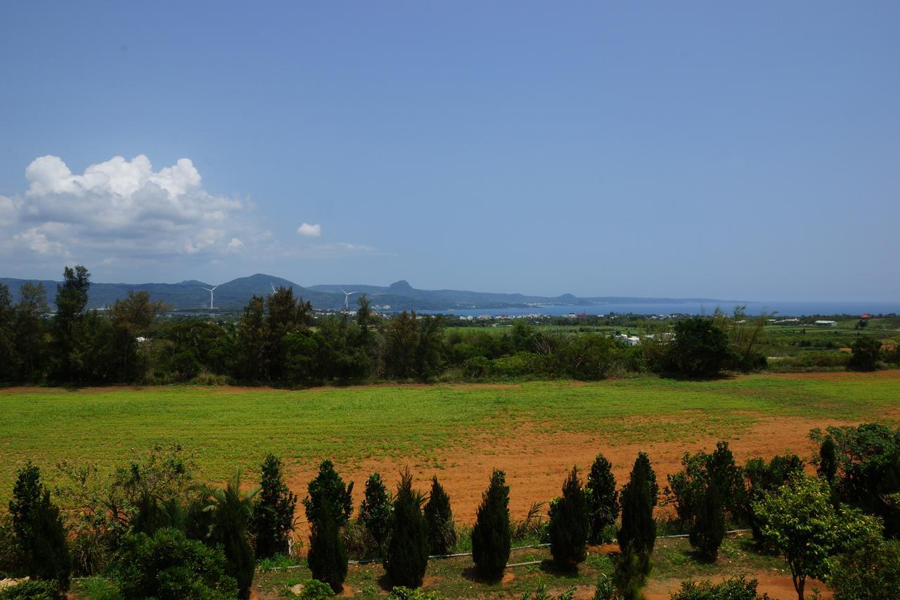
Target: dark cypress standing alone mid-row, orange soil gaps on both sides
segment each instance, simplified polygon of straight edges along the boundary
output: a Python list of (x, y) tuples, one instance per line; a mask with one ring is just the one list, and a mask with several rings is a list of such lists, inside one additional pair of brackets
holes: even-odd
[(509, 560), (509, 486), (506, 474), (495, 468), (491, 485), (482, 495), (472, 530), (472, 559), (479, 575), (500, 579)]

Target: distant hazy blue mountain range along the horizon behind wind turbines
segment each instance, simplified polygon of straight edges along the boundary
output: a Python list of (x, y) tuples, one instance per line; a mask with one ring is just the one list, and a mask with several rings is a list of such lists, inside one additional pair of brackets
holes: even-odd
[[(37, 279), (15, 279), (0, 277), (0, 284), (9, 287), (13, 300), (17, 299), (19, 286), (31, 281), (38, 283)], [(52, 305), (56, 295), (58, 281), (40, 280), (47, 288), (47, 300)], [(464, 290), (416, 289), (410, 286), (406, 280), (392, 283), (390, 286), (367, 286), (358, 284), (347, 285), (321, 285), (303, 287), (288, 281), (282, 277), (257, 273), (250, 277), (238, 277), (227, 283), (220, 284), (215, 290), (215, 307), (232, 310), (247, 305), (247, 301), (253, 295), (267, 295), (272, 293), (272, 287), (293, 287), (293, 295), (302, 296), (309, 300), (313, 308), (338, 309), (344, 306), (344, 293), (365, 293), (372, 300), (375, 307), (382, 310), (443, 310), (463, 308), (520, 308), (527, 305), (600, 305), (607, 303), (644, 303), (644, 304), (671, 304), (676, 302), (704, 302), (713, 304), (725, 302), (714, 298), (639, 298), (630, 296), (591, 296), (577, 297), (572, 294), (557, 296), (523, 295), (523, 294), (494, 294), (490, 292), (468, 292)], [(112, 305), (116, 299), (124, 298), (129, 291), (147, 291), (154, 300), (162, 300), (166, 305), (181, 310), (204, 308), (210, 305), (210, 293), (204, 287), (212, 287), (211, 284), (195, 279), (182, 281), (175, 284), (147, 283), (147, 284), (113, 284), (92, 283), (88, 305), (92, 308), (102, 308)], [(351, 308), (356, 307), (356, 296), (351, 296)]]

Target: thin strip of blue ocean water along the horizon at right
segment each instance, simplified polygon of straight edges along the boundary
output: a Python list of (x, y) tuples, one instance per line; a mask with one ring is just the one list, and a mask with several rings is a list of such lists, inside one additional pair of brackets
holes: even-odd
[(471, 308), (444, 311), (420, 311), (431, 314), (463, 314), (480, 316), (487, 314), (499, 316), (501, 314), (515, 316), (519, 314), (546, 314), (549, 316), (561, 316), (574, 314), (609, 314), (609, 313), (633, 313), (633, 314), (711, 314), (716, 307), (725, 313), (734, 312), (734, 307), (746, 305), (747, 314), (770, 314), (779, 316), (814, 316), (817, 314), (900, 314), (900, 301), (897, 302), (816, 302), (816, 301), (785, 301), (773, 300), (771, 302), (722, 302), (722, 303), (693, 303), (693, 302), (646, 302), (646, 303), (609, 303), (602, 305), (541, 305), (528, 306), (526, 308)]

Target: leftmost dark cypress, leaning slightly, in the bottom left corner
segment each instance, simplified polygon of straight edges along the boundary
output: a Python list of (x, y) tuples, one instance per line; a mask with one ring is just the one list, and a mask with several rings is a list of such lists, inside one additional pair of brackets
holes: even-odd
[(9, 512), (28, 576), (55, 580), (60, 590), (67, 590), (72, 558), (66, 528), (58, 507), (50, 502), (49, 489), (40, 483), (40, 469), (31, 463), (19, 469)]

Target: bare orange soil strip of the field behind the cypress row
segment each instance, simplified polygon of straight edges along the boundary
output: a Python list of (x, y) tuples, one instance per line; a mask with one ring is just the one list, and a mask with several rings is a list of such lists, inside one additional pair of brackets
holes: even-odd
[[(856, 424), (767, 415), (759, 415), (759, 419), (748, 430), (728, 440), (739, 464), (753, 456), (770, 458), (786, 452), (809, 458), (814, 452), (813, 443), (806, 437), (810, 429)], [(560, 495), (563, 478), (572, 465), (578, 465), (582, 477), (587, 477), (587, 470), (598, 452), (613, 463), (617, 482), (621, 486), (628, 477), (637, 452), (646, 451), (662, 489), (665, 476), (680, 470), (680, 460), (685, 452), (711, 450), (716, 441), (716, 438), (706, 438), (689, 442), (616, 443), (604, 440), (599, 434), (547, 434), (520, 430), (515, 438), (476, 434), (465, 447), (437, 450), (434, 455), (443, 468), (435, 468), (413, 458), (409, 461), (365, 460), (353, 465), (338, 462), (335, 467), (345, 481), (355, 482), (356, 506), (362, 501), (366, 478), (374, 471), (381, 472), (383, 479), (394, 488), (401, 468), (409, 465), (415, 485), (423, 492), (428, 492), (431, 477), (437, 475), (450, 495), (455, 520), (473, 523), (492, 468), (506, 471), (507, 483), (511, 487), (509, 510), (515, 520), (527, 513), (531, 503)], [(316, 473), (316, 469), (311, 468), (288, 468), (288, 485), (295, 494), (305, 497), (306, 486)]]

